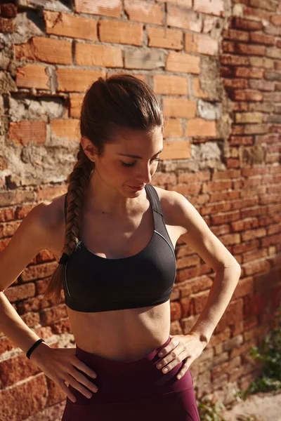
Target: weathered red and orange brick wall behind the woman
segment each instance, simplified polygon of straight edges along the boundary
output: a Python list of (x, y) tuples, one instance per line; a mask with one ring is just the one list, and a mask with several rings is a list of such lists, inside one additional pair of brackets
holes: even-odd
[[(17, 6), (15, 6), (15, 4)], [(65, 193), (79, 107), (98, 76), (131, 72), (167, 121), (153, 183), (184, 194), (242, 267), (204, 352), (197, 398), (257, 374), (249, 347), (280, 305), (281, 7), (277, 0), (18, 0), (0, 4), (0, 250), (31, 208)], [(214, 271), (182, 241), (171, 334), (188, 333)], [(28, 326), (74, 346), (63, 302), (43, 301), (48, 250), (6, 290)], [(227, 385), (227, 387), (226, 387)], [(223, 387), (223, 390), (221, 389)], [(60, 419), (65, 396), (0, 333), (0, 419)]]

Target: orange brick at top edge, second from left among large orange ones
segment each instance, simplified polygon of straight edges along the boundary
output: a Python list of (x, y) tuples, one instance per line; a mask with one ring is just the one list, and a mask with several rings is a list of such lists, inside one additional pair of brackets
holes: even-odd
[(125, 0), (124, 11), (129, 16), (129, 20), (155, 25), (164, 23), (164, 9), (159, 4), (148, 4), (143, 0)]

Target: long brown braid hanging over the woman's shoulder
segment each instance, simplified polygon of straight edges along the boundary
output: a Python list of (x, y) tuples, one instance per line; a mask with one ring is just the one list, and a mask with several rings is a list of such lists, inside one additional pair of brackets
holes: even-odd
[(55, 303), (60, 302), (62, 279), (65, 271), (65, 263), (75, 250), (79, 241), (79, 231), (81, 227), (81, 211), (84, 201), (84, 192), (89, 183), (89, 178), (94, 168), (94, 163), (86, 156), (80, 143), (77, 153), (77, 163), (72, 173), (67, 178), (69, 182), (67, 189), (67, 212), (65, 220), (65, 244), (63, 246), (63, 256), (60, 264), (55, 269), (51, 281), (44, 295), (45, 299), (55, 295)]

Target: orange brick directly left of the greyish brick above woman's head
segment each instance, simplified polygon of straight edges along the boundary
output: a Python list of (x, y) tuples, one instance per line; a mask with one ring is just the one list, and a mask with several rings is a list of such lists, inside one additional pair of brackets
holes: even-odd
[(123, 67), (121, 48), (112, 46), (76, 42), (75, 60), (80, 66)]

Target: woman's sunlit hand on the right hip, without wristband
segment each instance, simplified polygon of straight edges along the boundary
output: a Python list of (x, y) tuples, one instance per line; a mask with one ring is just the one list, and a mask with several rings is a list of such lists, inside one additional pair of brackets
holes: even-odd
[(188, 371), (192, 362), (202, 354), (207, 344), (192, 333), (170, 336), (172, 339), (169, 344), (158, 353), (158, 356), (163, 358), (157, 362), (157, 368), (162, 368), (162, 373), (166, 374), (169, 370), (176, 367), (178, 363), (186, 360), (181, 367), (181, 371), (176, 376), (177, 379), (180, 379)]

